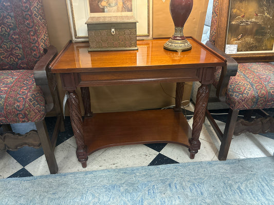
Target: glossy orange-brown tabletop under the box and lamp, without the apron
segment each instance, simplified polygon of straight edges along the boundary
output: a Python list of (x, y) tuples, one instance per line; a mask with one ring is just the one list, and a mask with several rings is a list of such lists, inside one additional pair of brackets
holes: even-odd
[(50, 65), (53, 73), (155, 70), (222, 66), (224, 58), (189, 37), (190, 51), (163, 49), (167, 39), (138, 40), (138, 51), (88, 52), (88, 43), (72, 43)]

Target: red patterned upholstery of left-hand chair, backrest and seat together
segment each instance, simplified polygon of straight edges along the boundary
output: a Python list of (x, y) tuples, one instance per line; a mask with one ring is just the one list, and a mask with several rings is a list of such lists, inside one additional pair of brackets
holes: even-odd
[(42, 0), (0, 0), (0, 124), (45, 117), (32, 70), (48, 46)]

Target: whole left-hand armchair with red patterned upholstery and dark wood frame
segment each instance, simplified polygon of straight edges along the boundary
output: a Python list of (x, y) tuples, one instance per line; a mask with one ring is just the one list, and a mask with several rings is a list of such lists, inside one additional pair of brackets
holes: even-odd
[[(42, 0), (0, 0), (0, 151), (42, 145), (54, 174), (54, 147), (64, 125), (56, 79), (48, 71), (57, 49), (49, 45), (46, 26)], [(58, 116), (51, 139), (44, 120), (49, 112)], [(23, 122), (35, 122), (37, 131), (10, 130)]]

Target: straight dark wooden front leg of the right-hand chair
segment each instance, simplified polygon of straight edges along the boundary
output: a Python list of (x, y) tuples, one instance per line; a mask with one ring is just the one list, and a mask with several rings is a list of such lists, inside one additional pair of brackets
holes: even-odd
[(230, 147), (230, 142), (233, 136), (234, 128), (237, 122), (239, 110), (231, 110), (229, 109), (226, 127), (223, 134), (223, 138), (221, 140), (221, 147), (218, 155), (219, 160), (226, 160), (228, 150)]

